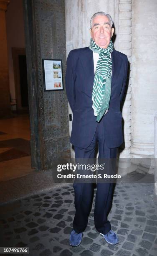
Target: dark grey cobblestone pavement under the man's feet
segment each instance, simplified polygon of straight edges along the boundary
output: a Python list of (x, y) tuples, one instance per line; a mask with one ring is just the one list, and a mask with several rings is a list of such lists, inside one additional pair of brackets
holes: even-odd
[(75, 213), (72, 184), (1, 205), (0, 243), (28, 246), (30, 256), (157, 256), (157, 199), (153, 194), (154, 184), (116, 185), (108, 216), (119, 236), (115, 246), (107, 244), (94, 227), (94, 203), (81, 245), (69, 245)]

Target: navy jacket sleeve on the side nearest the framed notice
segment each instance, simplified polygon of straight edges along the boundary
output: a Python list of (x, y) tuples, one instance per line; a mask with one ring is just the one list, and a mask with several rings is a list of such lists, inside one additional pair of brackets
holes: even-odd
[(66, 95), (67, 95), (71, 110), (73, 111), (75, 106), (75, 79), (74, 79), (73, 51), (69, 52), (67, 62), (66, 62)]

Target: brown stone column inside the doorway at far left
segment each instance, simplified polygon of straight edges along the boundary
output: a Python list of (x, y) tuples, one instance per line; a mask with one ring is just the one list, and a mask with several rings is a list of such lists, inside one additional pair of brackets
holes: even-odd
[(10, 115), (10, 89), (5, 11), (9, 0), (0, 0), (0, 117)]

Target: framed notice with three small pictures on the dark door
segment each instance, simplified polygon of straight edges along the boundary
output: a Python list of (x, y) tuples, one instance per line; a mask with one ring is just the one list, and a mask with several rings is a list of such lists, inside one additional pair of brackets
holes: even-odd
[(63, 89), (63, 69), (61, 59), (42, 59), (44, 91)]

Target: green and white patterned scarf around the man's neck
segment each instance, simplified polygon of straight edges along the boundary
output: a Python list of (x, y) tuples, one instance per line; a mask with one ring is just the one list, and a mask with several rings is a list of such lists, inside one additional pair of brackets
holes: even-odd
[(97, 117), (96, 121), (99, 122), (109, 108), (111, 97), (112, 62), (110, 54), (113, 51), (113, 43), (110, 40), (109, 46), (104, 49), (99, 47), (91, 38), (89, 49), (99, 54), (92, 92), (92, 108), (94, 109), (94, 115)]

